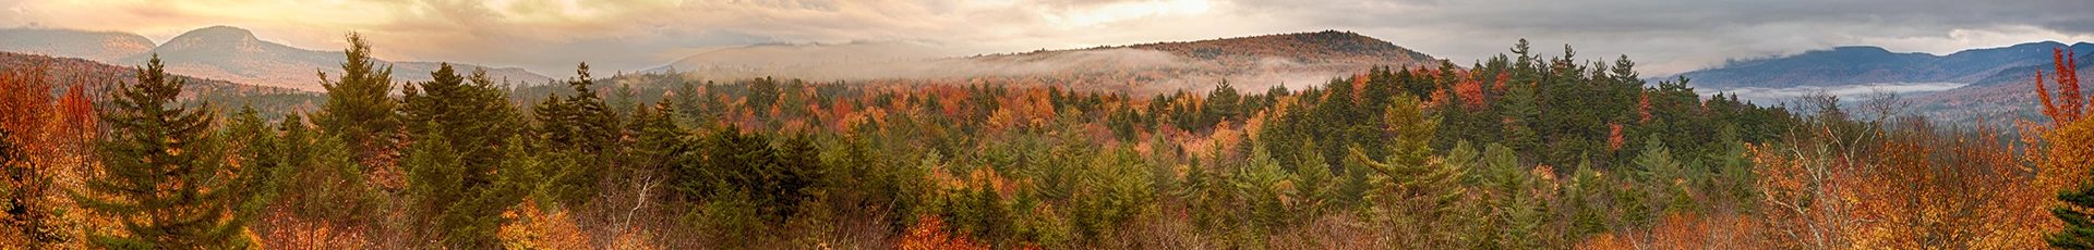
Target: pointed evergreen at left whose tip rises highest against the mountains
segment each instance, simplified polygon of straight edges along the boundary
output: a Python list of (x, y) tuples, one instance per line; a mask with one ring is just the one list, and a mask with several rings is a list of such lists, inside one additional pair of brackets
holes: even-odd
[(312, 121), (322, 133), (341, 138), (358, 165), (389, 169), (400, 148), (400, 117), (394, 113), (398, 100), (387, 96), (392, 67), (377, 67), (371, 44), (358, 33), (350, 33), (350, 50), (341, 54), (348, 56), (341, 79), (327, 81), (327, 73), (320, 73), (327, 104)]

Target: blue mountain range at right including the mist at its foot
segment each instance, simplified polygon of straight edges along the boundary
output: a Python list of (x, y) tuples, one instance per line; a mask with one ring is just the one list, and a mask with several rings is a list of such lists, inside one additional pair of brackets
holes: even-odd
[[(1947, 123), (2000, 127), (2014, 119), (2048, 121), (2035, 108), (2035, 71), (2056, 75), (2050, 58), (2052, 48), (2079, 52), (2075, 54), (2079, 60), (2075, 71), (2094, 75), (2094, 44), (2088, 42), (2031, 42), (1962, 50), (1947, 56), (1843, 46), (1792, 56), (1734, 60), (1679, 75), (1705, 92), (1864, 94), (1899, 88), (1922, 90), (1901, 94), (1914, 102), (1916, 115)], [(2081, 77), (2081, 88), (2094, 90), (2094, 77)]]

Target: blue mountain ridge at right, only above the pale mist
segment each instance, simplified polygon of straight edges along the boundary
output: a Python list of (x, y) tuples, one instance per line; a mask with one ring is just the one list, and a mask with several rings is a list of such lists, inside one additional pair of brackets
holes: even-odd
[[(2031, 42), (2006, 48), (1962, 50), (1947, 56), (1924, 52), (1889, 52), (1876, 46), (1843, 46), (1792, 56), (1734, 60), (1723, 67), (1679, 73), (1696, 88), (1799, 88), (1799, 85), (1870, 85), (1870, 83), (1975, 83), (2004, 69), (2048, 65), (2050, 48), (2060, 42)], [(2071, 50), (2094, 52), (2094, 44), (2071, 44)]]

